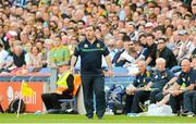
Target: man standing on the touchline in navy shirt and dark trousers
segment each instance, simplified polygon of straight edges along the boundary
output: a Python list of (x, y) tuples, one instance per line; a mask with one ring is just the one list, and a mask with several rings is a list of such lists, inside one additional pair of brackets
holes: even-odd
[(109, 50), (95, 36), (95, 27), (88, 25), (86, 27), (86, 39), (77, 45), (71, 60), (71, 71), (74, 72), (74, 65), (77, 57), (81, 55), (81, 76), (84, 94), (84, 103), (86, 116), (94, 117), (94, 92), (96, 96), (96, 114), (99, 120), (102, 119), (106, 111), (105, 99), (105, 78), (101, 70), (101, 58), (106, 57), (108, 64), (108, 75), (112, 75), (111, 60)]

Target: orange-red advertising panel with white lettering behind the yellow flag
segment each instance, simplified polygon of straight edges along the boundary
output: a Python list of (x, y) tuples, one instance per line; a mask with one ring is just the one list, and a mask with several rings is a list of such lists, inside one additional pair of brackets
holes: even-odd
[[(21, 82), (0, 82), (0, 95), (4, 97), (1, 106), (3, 110), (9, 108), (12, 99), (20, 97)], [(34, 90), (34, 96), (23, 97), (26, 104), (26, 112), (42, 111), (41, 94), (44, 92), (42, 82), (30, 82), (28, 86)]]

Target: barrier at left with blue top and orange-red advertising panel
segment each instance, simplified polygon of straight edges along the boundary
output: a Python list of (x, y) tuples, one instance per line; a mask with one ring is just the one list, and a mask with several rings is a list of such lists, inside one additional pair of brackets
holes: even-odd
[(0, 75), (0, 95), (3, 95), (3, 110), (9, 108), (9, 103), (21, 95), (22, 82), (26, 82), (34, 90), (33, 96), (23, 97), (26, 103), (27, 112), (42, 111), (41, 94), (50, 89), (51, 74), (49, 73), (29, 73), (29, 74), (1, 74)]

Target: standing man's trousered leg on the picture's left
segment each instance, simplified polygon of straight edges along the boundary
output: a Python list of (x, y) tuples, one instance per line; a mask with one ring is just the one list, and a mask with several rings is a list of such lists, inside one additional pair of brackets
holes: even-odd
[(94, 116), (94, 96), (93, 96), (93, 77), (82, 76), (84, 104), (86, 109), (86, 116), (93, 119)]

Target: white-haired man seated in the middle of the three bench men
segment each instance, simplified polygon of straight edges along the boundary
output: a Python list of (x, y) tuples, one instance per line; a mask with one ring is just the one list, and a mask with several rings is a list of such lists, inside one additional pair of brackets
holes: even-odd
[(132, 104), (132, 114), (135, 115), (138, 112), (142, 112), (139, 103), (144, 103), (146, 100), (150, 100), (150, 103), (160, 101), (163, 98), (162, 88), (164, 85), (172, 84), (176, 80), (174, 74), (166, 69), (166, 60), (159, 58), (156, 60), (157, 70), (151, 76), (150, 83), (140, 90), (136, 90)]

